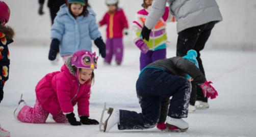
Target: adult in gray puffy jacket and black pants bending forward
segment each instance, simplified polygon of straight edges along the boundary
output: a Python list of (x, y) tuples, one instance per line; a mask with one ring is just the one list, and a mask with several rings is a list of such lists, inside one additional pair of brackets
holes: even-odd
[[(166, 3), (177, 21), (177, 56), (186, 55), (187, 51), (197, 51), (197, 61), (203, 75), (204, 69), (200, 58), (200, 51), (204, 48), (214, 25), (222, 20), (219, 7), (215, 0), (157, 0), (153, 1), (152, 11), (149, 13), (142, 29), (143, 39), (148, 40), (153, 26), (162, 17)], [(196, 97), (197, 95), (197, 97)], [(197, 109), (209, 108), (208, 99), (202, 95), (201, 89), (192, 82), (190, 105), (195, 110), (195, 100), (199, 100)]]

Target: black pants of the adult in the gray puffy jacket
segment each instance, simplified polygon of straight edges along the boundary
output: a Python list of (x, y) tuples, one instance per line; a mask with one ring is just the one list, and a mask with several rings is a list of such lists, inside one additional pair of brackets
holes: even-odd
[[(203, 50), (204, 45), (206, 44), (208, 38), (211, 35), (211, 31), (215, 25), (216, 21), (209, 22), (203, 25), (191, 27), (185, 29), (178, 33), (177, 40), (177, 56), (185, 56), (187, 52), (191, 49), (197, 51), (197, 61), (199, 64), (200, 71), (203, 75), (204, 69), (202, 65), (202, 60), (200, 58), (200, 51)], [(192, 92), (190, 97), (190, 104), (195, 105), (196, 100), (201, 100), (204, 102), (208, 101), (207, 97), (203, 97), (201, 88), (192, 82)]]

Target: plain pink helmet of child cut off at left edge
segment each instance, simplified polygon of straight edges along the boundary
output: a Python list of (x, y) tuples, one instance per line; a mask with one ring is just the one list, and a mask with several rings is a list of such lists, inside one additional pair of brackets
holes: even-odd
[(3, 2), (2, 0), (0, 0), (0, 21), (4, 23), (4, 25), (9, 21), (9, 17), (10, 17), (10, 9), (8, 7), (8, 5)]

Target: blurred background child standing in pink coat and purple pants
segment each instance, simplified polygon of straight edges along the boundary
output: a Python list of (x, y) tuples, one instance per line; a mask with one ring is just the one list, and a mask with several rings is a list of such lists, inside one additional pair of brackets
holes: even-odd
[[(121, 8), (118, 8), (118, 0), (106, 0), (109, 11), (99, 21), (99, 26), (107, 25), (106, 57), (104, 62), (110, 64), (115, 56), (117, 65), (123, 59), (123, 29), (127, 29), (128, 22)], [(125, 32), (127, 35), (127, 32)]]

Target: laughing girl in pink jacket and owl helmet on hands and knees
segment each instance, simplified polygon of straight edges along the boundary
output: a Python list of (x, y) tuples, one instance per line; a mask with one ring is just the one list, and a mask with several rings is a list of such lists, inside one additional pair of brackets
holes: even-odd
[[(66, 60), (61, 71), (49, 73), (38, 82), (34, 108), (21, 99), (14, 117), (21, 122), (45, 123), (50, 113), (57, 123), (98, 124), (98, 121), (89, 119), (90, 88), (97, 59), (95, 52), (75, 52)], [(73, 113), (76, 104), (80, 121), (76, 121)]]

